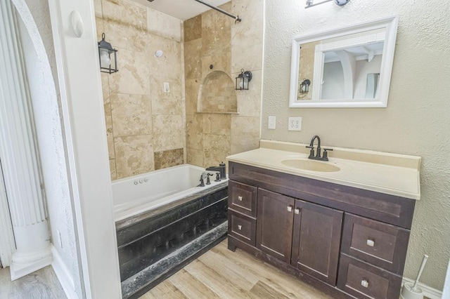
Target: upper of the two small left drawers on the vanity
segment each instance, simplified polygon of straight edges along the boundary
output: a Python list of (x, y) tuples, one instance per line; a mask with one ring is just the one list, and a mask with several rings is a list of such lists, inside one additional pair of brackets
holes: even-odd
[(229, 208), (256, 217), (257, 187), (229, 181)]

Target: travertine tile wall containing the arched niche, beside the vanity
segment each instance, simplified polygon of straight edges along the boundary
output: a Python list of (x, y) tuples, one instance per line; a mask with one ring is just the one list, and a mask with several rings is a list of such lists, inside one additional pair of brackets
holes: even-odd
[[(219, 164), (229, 154), (259, 147), (264, 3), (233, 0), (221, 8), (239, 15), (242, 22), (217, 11), (184, 22), (187, 161), (205, 167)], [(249, 91), (233, 91), (238, 114), (198, 113), (198, 92), (207, 75), (224, 72), (233, 86), (240, 69), (250, 70), (253, 79)], [(217, 100), (221, 94), (205, 96)]]

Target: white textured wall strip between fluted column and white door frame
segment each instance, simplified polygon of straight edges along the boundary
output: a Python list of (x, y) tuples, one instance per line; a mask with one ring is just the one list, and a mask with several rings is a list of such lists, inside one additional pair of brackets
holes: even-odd
[[(47, 1), (15, 1), (28, 86), (30, 88), (39, 159), (49, 213), (51, 243), (68, 267), (79, 298), (83, 296), (74, 219), (68, 184), (59, 98), (52, 77), (56, 70)], [(31, 12), (31, 13), (30, 13)], [(56, 73), (55, 73), (56, 74)], [(58, 231), (61, 234), (60, 246)]]

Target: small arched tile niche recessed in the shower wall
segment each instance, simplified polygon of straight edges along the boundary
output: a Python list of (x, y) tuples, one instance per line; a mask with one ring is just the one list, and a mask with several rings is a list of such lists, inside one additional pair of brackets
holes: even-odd
[(206, 75), (198, 92), (197, 112), (238, 113), (238, 100), (233, 79), (217, 70)]

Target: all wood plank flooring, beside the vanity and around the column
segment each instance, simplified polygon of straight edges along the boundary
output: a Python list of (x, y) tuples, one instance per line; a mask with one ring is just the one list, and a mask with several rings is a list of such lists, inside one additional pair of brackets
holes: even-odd
[[(222, 241), (141, 298), (330, 298), (276, 267), (239, 249), (233, 253), (226, 246), (226, 240)], [(66, 297), (53, 269), (45, 267), (12, 282), (9, 268), (0, 269), (0, 298)]]

